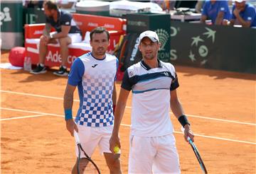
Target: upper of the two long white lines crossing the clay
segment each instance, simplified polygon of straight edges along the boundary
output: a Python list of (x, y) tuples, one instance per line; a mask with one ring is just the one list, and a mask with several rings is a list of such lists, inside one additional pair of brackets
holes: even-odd
[[(28, 95), (28, 96), (33, 96), (33, 97), (50, 98), (50, 99), (55, 99), (55, 100), (63, 100), (63, 98), (51, 97), (51, 96), (47, 96), (47, 95), (37, 95), (37, 94), (31, 94), (31, 93), (20, 93), (20, 92), (4, 91), (4, 90), (0, 90), (0, 91), (2, 93), (13, 93), (13, 94), (17, 94), (17, 95)], [(80, 100), (75, 99), (74, 101), (79, 102)], [(126, 108), (132, 109), (132, 107), (130, 107), (130, 106), (127, 106)], [(236, 123), (236, 124), (247, 124), (247, 125), (256, 126), (256, 123), (251, 123), (251, 122), (238, 122), (238, 121), (235, 121), (235, 120), (224, 120), (224, 119), (219, 119), (219, 118), (203, 117), (203, 116), (199, 116), (199, 115), (190, 115), (190, 114), (187, 114), (187, 116), (188, 117), (195, 117), (195, 118), (206, 119), (206, 120), (215, 120), (215, 121), (220, 121), (220, 122), (232, 122), (232, 123)]]

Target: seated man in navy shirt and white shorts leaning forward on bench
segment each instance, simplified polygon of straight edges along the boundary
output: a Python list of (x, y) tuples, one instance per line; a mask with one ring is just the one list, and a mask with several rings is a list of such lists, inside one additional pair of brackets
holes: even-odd
[[(59, 71), (53, 72), (57, 76), (68, 76), (68, 71), (65, 64), (68, 61), (68, 45), (72, 42), (81, 42), (82, 33), (75, 24), (70, 13), (65, 13), (58, 9), (57, 4), (52, 1), (45, 1), (43, 4), (44, 13), (46, 15), (46, 27), (43, 30), (43, 35), (40, 37), (39, 43), (39, 63), (36, 69), (31, 71), (31, 74), (46, 73), (44, 62), (47, 53), (48, 43), (60, 44), (61, 66)], [(56, 32), (50, 33), (50, 28), (55, 28)]]

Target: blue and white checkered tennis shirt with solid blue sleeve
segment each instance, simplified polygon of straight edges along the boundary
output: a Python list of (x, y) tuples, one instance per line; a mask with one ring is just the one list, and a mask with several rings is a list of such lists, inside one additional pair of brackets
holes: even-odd
[(118, 59), (106, 54), (96, 59), (91, 52), (75, 59), (68, 83), (78, 86), (80, 108), (75, 122), (87, 127), (106, 127), (114, 122), (112, 93)]

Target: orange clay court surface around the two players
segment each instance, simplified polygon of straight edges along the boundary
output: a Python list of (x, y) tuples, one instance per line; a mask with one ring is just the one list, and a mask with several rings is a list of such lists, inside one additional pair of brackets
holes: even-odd
[[(8, 62), (1, 52), (1, 62)], [(176, 66), (178, 95), (208, 173), (256, 173), (255, 75)], [(67, 77), (1, 69), (1, 173), (70, 173), (74, 141), (65, 129)], [(120, 82), (117, 83), (119, 93)], [(127, 173), (131, 99), (122, 120), (122, 170)], [(161, 100), (161, 99), (159, 99)], [(157, 102), (157, 101), (156, 101)], [(78, 110), (75, 92), (73, 115)], [(202, 173), (171, 115), (181, 173)], [(145, 147), (146, 148), (146, 147)], [(108, 173), (98, 151), (92, 156)]]

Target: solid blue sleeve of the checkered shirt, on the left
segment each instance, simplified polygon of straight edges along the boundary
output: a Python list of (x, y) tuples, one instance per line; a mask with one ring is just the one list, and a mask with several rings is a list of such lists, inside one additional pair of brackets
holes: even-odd
[(73, 62), (70, 73), (68, 74), (68, 84), (78, 86), (78, 83), (82, 81), (83, 74), (85, 74), (85, 66), (81, 59), (77, 58)]

